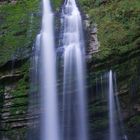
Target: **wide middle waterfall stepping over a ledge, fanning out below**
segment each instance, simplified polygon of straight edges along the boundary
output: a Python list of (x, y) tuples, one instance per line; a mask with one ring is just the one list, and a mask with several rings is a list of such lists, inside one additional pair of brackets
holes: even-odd
[(75, 0), (64, 2), (61, 21), (64, 48), (62, 140), (87, 140), (84, 39)]

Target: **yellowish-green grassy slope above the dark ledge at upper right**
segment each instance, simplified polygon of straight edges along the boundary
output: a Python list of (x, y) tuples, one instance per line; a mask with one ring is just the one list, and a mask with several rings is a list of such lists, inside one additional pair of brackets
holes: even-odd
[(120, 56), (139, 47), (139, 0), (80, 0), (79, 3), (89, 14), (90, 23), (98, 25), (101, 47), (93, 59)]

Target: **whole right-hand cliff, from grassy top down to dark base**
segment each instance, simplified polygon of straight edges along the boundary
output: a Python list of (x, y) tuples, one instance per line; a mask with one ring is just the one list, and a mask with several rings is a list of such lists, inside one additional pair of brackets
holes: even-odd
[[(85, 3), (80, 2), (81, 7), (89, 15), (88, 23), (93, 24), (96, 22), (98, 25), (100, 51), (88, 56), (90, 130), (94, 139), (97, 140), (104, 139), (108, 134), (106, 131), (108, 128), (107, 101), (98, 96), (101, 95), (102, 91), (100, 89), (103, 88), (99, 77), (103, 72), (110, 69), (114, 70), (117, 75), (118, 97), (128, 139), (140, 139), (140, 30), (138, 31), (139, 22), (131, 24), (134, 17), (139, 19), (136, 5), (140, 4), (140, 2), (134, 0), (132, 3), (128, 0), (101, 0), (98, 2), (88, 0)], [(133, 5), (133, 10), (126, 7), (125, 4), (130, 5), (130, 7)], [(130, 15), (130, 11), (135, 14)], [(132, 30), (130, 28), (126, 29), (126, 24)], [(91, 38), (89, 39), (89, 44), (92, 44), (90, 47), (88, 45), (88, 50), (94, 46), (93, 44), (96, 44), (95, 32), (96, 30), (93, 30), (92, 34), (92, 32), (88, 31), (88, 39)], [(88, 54), (92, 50), (94, 48)], [(96, 94), (97, 91), (98, 94)]]

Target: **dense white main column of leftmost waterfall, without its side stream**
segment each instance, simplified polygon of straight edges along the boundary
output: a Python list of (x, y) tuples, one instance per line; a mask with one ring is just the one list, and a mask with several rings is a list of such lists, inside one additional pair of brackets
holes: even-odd
[(59, 140), (53, 13), (43, 0), (40, 37), (41, 140)]

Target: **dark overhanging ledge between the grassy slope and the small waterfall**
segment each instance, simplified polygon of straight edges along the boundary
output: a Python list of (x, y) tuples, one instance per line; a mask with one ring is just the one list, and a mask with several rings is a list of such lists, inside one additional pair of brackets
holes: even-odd
[[(95, 56), (94, 56), (95, 55)], [(140, 55), (140, 47), (126, 51), (122, 54), (111, 54), (104, 59), (97, 58), (100, 57), (100, 52), (93, 54), (92, 59), (87, 59), (87, 64), (89, 69), (94, 71), (111, 69), (118, 64), (122, 64), (130, 59), (133, 59)]]

